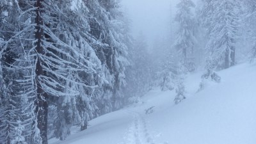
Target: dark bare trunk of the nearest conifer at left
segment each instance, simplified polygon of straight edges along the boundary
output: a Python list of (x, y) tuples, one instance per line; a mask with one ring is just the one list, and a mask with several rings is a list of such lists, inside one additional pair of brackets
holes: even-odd
[[(36, 42), (36, 53), (43, 55), (44, 47), (42, 47), (42, 39), (44, 38), (44, 21), (42, 19), (44, 0), (36, 0), (36, 27), (35, 27), (35, 38)], [(37, 118), (37, 127), (40, 130), (40, 136), (42, 138), (42, 143), (47, 144), (47, 115), (48, 115), (48, 95), (42, 89), (39, 77), (44, 75), (44, 70), (42, 65), (44, 65), (43, 60), (39, 56), (36, 56), (36, 69), (35, 69), (35, 83), (36, 83), (36, 102), (35, 102), (35, 113)]]

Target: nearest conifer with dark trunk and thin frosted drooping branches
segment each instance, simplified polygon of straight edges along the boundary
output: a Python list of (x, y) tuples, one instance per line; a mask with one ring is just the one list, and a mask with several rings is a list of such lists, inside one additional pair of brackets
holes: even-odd
[[(40, 133), (42, 143), (47, 143), (49, 97), (78, 95), (74, 90), (66, 89), (67, 81), (92, 90), (95, 85), (86, 83), (86, 79), (74, 79), (73, 77), (81, 73), (96, 74), (95, 69), (100, 65), (95, 63), (97, 57), (92, 47), (88, 45), (89, 26), (87, 20), (84, 19), (86, 16), (83, 13), (86, 12), (86, 8), (83, 3), (77, 4), (79, 6), (75, 8), (70, 5), (69, 1), (56, 3), (51, 0), (23, 1), (14, 5), (18, 6), (18, 10), (22, 13), (17, 17), (19, 29), (15, 33), (16, 36), (4, 41), (4, 47), (10, 47), (13, 42), (19, 42), (17, 49), (22, 53), (13, 63), (13, 67), (20, 72), (28, 70), (24, 74), (29, 76), (18, 77), (15, 81), (19, 83), (15, 88), (24, 87), (24, 84), (30, 85), (20, 95), (24, 98), (31, 95), (30, 98), (34, 98), (31, 102), (35, 102), (36, 115), (34, 118), (31, 116), (30, 119), (35, 120), (33, 129), (38, 129), (40, 132), (32, 132), (33, 140), (31, 141), (40, 143), (35, 136), (36, 133)], [(73, 22), (74, 20), (76, 22)], [(67, 77), (68, 72), (72, 75), (72, 79)], [(33, 113), (32, 109), (30, 111)]]

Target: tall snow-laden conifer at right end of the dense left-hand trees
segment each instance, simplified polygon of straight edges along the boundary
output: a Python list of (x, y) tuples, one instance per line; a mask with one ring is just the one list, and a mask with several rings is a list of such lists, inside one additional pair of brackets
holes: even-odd
[[(88, 1), (87, 5), (92, 14), (90, 33), (98, 40), (92, 46), (102, 63), (103, 77), (108, 81), (102, 85), (104, 92), (99, 90), (97, 94), (99, 109), (105, 109), (100, 112), (102, 114), (106, 113), (107, 109), (111, 111), (121, 108), (124, 102), (124, 95), (121, 93), (121, 88), (125, 84), (124, 72), (125, 63), (127, 63), (125, 33), (122, 32), (124, 22), (121, 20), (122, 13), (120, 13), (119, 2), (116, 0)], [(106, 108), (101, 108), (101, 106)]]

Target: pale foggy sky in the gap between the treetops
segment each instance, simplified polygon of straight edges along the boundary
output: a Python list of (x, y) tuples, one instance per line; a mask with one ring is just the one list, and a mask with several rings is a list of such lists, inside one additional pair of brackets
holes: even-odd
[[(132, 20), (132, 35), (136, 38), (143, 31), (148, 42), (168, 35), (171, 10), (177, 0), (122, 0), (122, 5)], [(173, 15), (173, 14), (172, 14)]]

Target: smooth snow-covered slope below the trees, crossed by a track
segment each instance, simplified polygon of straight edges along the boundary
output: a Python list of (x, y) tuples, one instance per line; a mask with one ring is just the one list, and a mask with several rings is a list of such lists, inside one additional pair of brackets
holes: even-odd
[[(152, 90), (134, 104), (90, 122), (86, 131), (51, 144), (255, 144), (256, 65), (219, 72), (221, 83), (197, 92), (200, 73), (186, 79), (188, 99)], [(146, 115), (145, 109), (154, 106)]]

